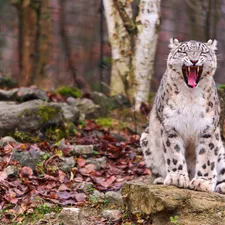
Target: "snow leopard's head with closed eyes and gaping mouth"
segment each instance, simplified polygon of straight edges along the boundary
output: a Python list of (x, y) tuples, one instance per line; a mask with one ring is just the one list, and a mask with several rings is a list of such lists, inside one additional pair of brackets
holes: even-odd
[(216, 40), (209, 40), (207, 43), (179, 42), (172, 38), (167, 60), (168, 70), (173, 71), (175, 78), (183, 79), (188, 87), (196, 88), (202, 80), (211, 79), (216, 71), (216, 46)]

